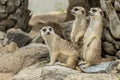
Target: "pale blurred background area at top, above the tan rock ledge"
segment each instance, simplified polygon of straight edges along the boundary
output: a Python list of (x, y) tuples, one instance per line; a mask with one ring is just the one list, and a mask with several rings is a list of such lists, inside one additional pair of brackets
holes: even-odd
[(67, 9), (68, 0), (29, 0), (29, 9), (34, 14), (51, 11), (64, 11)]

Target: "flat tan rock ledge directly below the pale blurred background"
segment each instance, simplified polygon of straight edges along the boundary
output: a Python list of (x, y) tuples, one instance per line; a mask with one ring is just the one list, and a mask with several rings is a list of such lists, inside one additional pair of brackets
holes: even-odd
[(29, 25), (34, 25), (39, 23), (40, 21), (44, 21), (46, 23), (62, 23), (66, 18), (66, 13), (60, 12), (52, 12), (47, 14), (34, 14), (32, 15)]

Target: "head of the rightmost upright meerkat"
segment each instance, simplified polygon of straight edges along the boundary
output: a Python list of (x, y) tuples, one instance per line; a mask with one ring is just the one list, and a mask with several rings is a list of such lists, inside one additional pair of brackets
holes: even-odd
[(91, 8), (88, 14), (90, 17), (94, 17), (94, 16), (103, 17), (103, 11), (100, 8)]

